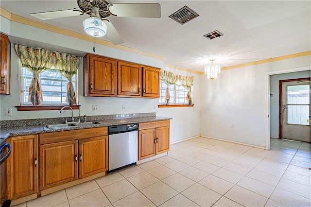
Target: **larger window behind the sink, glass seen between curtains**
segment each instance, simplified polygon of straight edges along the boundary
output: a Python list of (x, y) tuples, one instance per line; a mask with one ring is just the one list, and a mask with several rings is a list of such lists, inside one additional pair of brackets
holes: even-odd
[[(77, 91), (76, 77), (72, 77), (72, 85), (74, 91)], [(33, 73), (26, 68), (21, 68), (21, 103), (22, 105), (32, 105), (28, 101), (29, 86), (33, 78)], [(39, 80), (41, 84), (41, 90), (43, 95), (42, 105), (67, 105), (67, 83), (68, 79), (55, 70), (45, 70), (39, 74)]]

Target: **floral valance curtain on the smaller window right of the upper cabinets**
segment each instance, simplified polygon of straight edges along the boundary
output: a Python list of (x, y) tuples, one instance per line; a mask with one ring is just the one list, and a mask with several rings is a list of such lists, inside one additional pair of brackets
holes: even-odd
[(177, 75), (177, 74), (174, 74), (173, 72), (161, 70), (161, 78), (164, 81), (164, 83), (166, 83), (167, 85), (167, 88), (165, 91), (166, 104), (169, 104), (169, 100), (170, 100), (169, 86), (172, 86), (174, 84), (178, 86), (183, 86), (188, 90), (188, 93), (186, 96), (187, 103), (188, 105), (193, 104), (192, 97), (191, 97), (191, 86), (193, 85), (194, 76), (189, 77), (189, 76), (184, 76), (184, 75)]

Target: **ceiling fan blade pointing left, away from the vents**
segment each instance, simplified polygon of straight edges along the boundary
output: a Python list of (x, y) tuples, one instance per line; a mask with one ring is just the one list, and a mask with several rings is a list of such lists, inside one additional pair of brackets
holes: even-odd
[(32, 13), (30, 14), (33, 17), (38, 19), (46, 20), (52, 18), (62, 18), (62, 17), (73, 17), (81, 15), (82, 11), (77, 9), (67, 9), (67, 10), (58, 10), (52, 12), (40, 12), (40, 13)]

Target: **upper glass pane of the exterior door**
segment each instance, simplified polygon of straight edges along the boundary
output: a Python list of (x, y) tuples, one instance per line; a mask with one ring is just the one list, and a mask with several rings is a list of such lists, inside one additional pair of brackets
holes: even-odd
[(287, 86), (287, 104), (310, 104), (310, 84)]

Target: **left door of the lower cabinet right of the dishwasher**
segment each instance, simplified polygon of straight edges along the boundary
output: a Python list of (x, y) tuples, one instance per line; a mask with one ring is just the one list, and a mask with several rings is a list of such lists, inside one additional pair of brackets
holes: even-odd
[(155, 155), (155, 128), (139, 130), (138, 160)]

